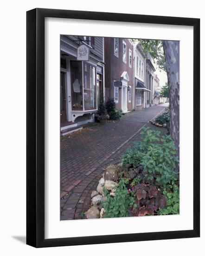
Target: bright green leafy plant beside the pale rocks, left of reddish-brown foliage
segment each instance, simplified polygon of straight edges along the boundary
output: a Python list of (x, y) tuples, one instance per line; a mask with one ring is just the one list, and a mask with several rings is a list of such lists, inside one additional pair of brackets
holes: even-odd
[(128, 217), (129, 209), (133, 208), (134, 196), (132, 196), (125, 186), (124, 179), (120, 179), (115, 190), (115, 196), (110, 196), (108, 190), (104, 190), (104, 196), (107, 198), (101, 202), (105, 210), (104, 218)]

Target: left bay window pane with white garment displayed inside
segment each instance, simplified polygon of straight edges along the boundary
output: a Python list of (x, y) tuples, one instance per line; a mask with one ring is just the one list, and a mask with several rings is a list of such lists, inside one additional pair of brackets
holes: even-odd
[(72, 109), (83, 110), (82, 62), (70, 61)]

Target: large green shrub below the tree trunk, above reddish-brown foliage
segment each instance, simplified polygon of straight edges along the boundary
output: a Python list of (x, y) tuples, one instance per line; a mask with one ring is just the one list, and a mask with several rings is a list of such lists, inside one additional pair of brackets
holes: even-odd
[(129, 148), (122, 155), (123, 164), (140, 164), (143, 167), (144, 182), (159, 186), (177, 180), (175, 167), (178, 161), (176, 148), (170, 135), (160, 137), (159, 131), (143, 128), (142, 141), (134, 141), (135, 148)]

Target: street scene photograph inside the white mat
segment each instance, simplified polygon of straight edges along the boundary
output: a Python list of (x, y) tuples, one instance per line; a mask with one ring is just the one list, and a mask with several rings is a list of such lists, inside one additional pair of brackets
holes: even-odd
[(60, 220), (179, 215), (180, 41), (59, 40)]

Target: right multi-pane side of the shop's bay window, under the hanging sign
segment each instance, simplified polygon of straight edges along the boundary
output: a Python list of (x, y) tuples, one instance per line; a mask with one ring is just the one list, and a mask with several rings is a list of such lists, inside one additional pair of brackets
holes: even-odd
[[(86, 65), (86, 68), (85, 68)], [(83, 63), (84, 109), (96, 108), (96, 67)], [(86, 70), (86, 71), (85, 71)], [(86, 86), (85, 86), (86, 85)]]

